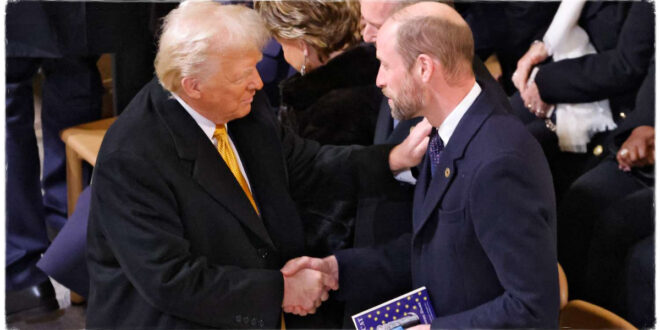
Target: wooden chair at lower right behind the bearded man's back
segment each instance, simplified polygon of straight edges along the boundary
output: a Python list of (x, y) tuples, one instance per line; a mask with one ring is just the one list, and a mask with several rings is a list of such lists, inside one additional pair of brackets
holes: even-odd
[(568, 329), (637, 329), (622, 317), (583, 300), (568, 301), (568, 281), (559, 270), (559, 327)]

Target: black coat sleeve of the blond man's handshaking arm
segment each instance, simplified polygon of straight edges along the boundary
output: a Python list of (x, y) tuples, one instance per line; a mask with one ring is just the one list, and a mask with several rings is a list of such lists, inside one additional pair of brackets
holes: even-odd
[(104, 158), (95, 169), (89, 236), (111, 251), (144, 300), (209, 327), (245, 327), (235, 317), (246, 312), (266, 327), (279, 325), (284, 284), (278, 270), (217, 265), (195, 255), (180, 199), (154, 161), (117, 152)]

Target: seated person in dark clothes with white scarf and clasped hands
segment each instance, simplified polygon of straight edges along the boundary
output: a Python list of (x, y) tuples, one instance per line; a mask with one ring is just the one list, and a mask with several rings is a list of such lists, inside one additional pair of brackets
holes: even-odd
[[(579, 2), (568, 2), (569, 5), (576, 3)], [(558, 15), (561, 13), (574, 15), (572, 19), (563, 16), (555, 19), (575, 22), (575, 26), (586, 32), (596, 53), (546, 63), (557, 49), (567, 46), (564, 44), (567, 39), (544, 38), (544, 42), (534, 43), (518, 62), (513, 82), (519, 93), (511, 99), (514, 114), (543, 146), (558, 196), (605, 156), (603, 143), (610, 135), (607, 130), (614, 123), (624, 122), (633, 111), (635, 95), (648, 70), (655, 40), (653, 8), (648, 2), (589, 1), (583, 4), (580, 12), (558, 11)], [(565, 29), (572, 28), (567, 25)], [(532, 75), (534, 67), (538, 71)], [(555, 120), (550, 115), (550, 109), (561, 103), (603, 100), (609, 103), (614, 123), (596, 122), (590, 129), (594, 135), (580, 152), (562, 152), (557, 134), (552, 131), (553, 126), (562, 123), (558, 117)], [(549, 115), (551, 118), (547, 118)], [(569, 121), (570, 124), (584, 125), (580, 120)], [(555, 129), (559, 132), (563, 128)]]

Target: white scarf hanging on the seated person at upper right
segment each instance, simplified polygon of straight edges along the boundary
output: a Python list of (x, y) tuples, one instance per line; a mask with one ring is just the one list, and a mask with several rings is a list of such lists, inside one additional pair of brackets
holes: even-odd
[[(595, 54), (587, 33), (577, 25), (585, 0), (564, 0), (543, 37), (554, 61)], [(562, 151), (585, 153), (591, 137), (616, 128), (607, 99), (590, 103), (559, 103), (555, 108)]]

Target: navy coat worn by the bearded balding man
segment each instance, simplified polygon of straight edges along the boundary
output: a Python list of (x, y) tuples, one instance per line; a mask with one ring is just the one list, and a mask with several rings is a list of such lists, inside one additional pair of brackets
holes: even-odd
[(348, 291), (356, 286), (402, 288), (408, 278), (393, 261), (408, 254), (412, 287), (429, 290), (434, 328), (556, 327), (555, 232), (543, 152), (484, 88), (448, 141), (433, 179), (428, 158), (423, 161), (412, 238), (338, 252), (340, 291), (351, 299)]

